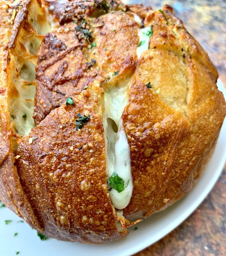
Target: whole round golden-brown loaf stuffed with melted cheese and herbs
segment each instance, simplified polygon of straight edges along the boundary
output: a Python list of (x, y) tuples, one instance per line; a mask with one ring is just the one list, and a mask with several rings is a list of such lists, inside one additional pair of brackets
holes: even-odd
[(225, 100), (171, 7), (2, 1), (0, 19), (7, 207), (48, 236), (103, 243), (192, 187)]

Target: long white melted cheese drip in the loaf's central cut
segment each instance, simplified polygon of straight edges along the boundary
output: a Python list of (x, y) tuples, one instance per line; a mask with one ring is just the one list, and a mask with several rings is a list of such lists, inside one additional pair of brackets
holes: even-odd
[(107, 152), (107, 178), (109, 179), (113, 173), (116, 173), (124, 180), (125, 187), (120, 193), (114, 188), (109, 190), (111, 201), (117, 209), (123, 209), (129, 204), (133, 192), (130, 148), (121, 119), (129, 100), (128, 89), (128, 85), (122, 86), (106, 91), (104, 94), (103, 125)]

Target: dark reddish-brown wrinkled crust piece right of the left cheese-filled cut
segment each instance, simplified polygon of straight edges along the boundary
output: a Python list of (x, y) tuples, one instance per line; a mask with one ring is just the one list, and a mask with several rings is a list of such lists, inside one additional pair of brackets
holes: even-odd
[(95, 61), (87, 56), (87, 43), (79, 38), (78, 26), (69, 23), (43, 39), (37, 53), (33, 115), (36, 124), (67, 97), (79, 94), (97, 76)]

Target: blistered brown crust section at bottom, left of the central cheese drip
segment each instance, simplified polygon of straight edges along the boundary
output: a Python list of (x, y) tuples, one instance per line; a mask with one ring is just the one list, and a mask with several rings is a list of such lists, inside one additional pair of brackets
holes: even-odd
[[(73, 106), (64, 103), (51, 111), (23, 139), (17, 167), (43, 233), (101, 243), (120, 235), (107, 193), (102, 117), (73, 100)], [(79, 115), (89, 116), (81, 130)]]

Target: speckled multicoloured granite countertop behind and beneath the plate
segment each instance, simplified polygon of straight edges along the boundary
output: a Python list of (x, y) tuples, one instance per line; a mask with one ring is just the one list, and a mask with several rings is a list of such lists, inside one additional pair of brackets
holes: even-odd
[[(226, 85), (226, 0), (125, 0), (154, 10), (169, 4), (209, 54)], [(225, 86), (226, 87), (226, 86)], [(212, 192), (178, 228), (136, 256), (226, 255), (226, 165)]]

